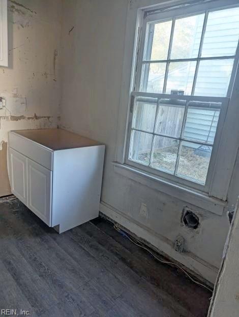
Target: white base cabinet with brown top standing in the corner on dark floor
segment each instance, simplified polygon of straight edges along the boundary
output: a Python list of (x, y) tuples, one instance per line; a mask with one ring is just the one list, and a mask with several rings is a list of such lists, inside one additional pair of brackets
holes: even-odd
[(9, 133), (12, 193), (59, 233), (99, 215), (105, 146), (61, 129)]

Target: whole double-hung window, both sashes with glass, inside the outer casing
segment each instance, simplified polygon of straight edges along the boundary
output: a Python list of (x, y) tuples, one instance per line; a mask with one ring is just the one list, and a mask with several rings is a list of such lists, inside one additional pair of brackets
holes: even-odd
[(239, 7), (145, 12), (126, 163), (208, 192), (238, 59)]

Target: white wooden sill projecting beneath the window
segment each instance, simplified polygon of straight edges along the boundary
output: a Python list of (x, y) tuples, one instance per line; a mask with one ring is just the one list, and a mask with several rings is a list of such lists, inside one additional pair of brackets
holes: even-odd
[(194, 191), (193, 189), (174, 184), (167, 180), (161, 179), (153, 174), (148, 174), (126, 164), (112, 162), (114, 171), (125, 177), (133, 179), (143, 185), (156, 189), (165, 194), (176, 197), (192, 205), (211, 211), (217, 215), (222, 215), (226, 201), (209, 197), (203, 192)]

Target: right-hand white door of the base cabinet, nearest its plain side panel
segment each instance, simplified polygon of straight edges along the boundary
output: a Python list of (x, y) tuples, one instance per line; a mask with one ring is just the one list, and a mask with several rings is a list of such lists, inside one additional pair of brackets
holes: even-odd
[(51, 226), (51, 171), (27, 159), (28, 208)]

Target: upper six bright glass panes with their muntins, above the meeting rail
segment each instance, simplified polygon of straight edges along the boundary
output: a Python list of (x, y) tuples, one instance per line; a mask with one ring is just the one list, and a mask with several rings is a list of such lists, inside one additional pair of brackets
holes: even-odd
[(226, 97), (238, 38), (237, 7), (148, 22), (139, 91)]

